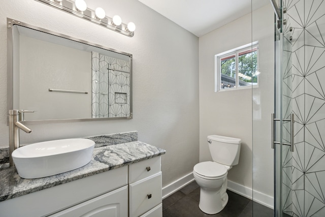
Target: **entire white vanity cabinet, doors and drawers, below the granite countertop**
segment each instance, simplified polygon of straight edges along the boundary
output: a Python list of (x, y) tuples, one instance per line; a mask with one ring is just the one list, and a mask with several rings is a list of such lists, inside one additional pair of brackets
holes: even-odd
[(162, 217), (160, 167), (158, 156), (5, 200), (0, 216)]

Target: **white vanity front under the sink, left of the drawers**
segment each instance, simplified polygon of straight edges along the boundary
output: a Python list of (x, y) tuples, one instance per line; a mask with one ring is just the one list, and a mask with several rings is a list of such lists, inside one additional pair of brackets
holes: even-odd
[[(85, 216), (118, 216), (104, 213), (119, 206), (120, 216), (125, 217), (127, 188), (126, 166), (2, 201), (0, 216), (80, 216), (81, 213), (88, 214)], [(106, 210), (101, 210), (100, 204)], [(95, 215), (95, 212), (99, 214)]]

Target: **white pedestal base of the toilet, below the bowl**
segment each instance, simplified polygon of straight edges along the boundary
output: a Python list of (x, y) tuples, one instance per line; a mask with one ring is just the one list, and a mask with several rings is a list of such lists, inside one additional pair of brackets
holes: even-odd
[(199, 208), (207, 214), (220, 212), (228, 203), (228, 194), (225, 191), (200, 190)]

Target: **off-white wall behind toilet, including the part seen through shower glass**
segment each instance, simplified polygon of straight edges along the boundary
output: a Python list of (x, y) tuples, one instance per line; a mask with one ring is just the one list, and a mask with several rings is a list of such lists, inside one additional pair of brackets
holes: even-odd
[[(273, 16), (271, 6), (266, 6), (253, 12), (253, 20), (251, 14), (246, 15), (199, 39), (200, 162), (212, 160), (208, 135), (240, 138), (239, 164), (229, 171), (229, 180), (270, 197), (273, 197), (273, 151), (268, 129), (274, 109)], [(214, 55), (252, 41), (259, 43), (259, 87), (214, 92)], [(261, 103), (254, 104), (253, 113), (252, 97)], [(262, 119), (252, 122), (252, 114), (255, 117), (256, 113)]]

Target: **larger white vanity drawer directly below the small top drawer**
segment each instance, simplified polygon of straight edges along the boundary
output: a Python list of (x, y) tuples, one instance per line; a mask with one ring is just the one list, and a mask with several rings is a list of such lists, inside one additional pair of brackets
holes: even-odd
[(139, 216), (162, 201), (161, 172), (129, 184), (129, 217)]

